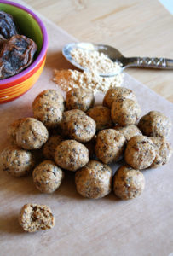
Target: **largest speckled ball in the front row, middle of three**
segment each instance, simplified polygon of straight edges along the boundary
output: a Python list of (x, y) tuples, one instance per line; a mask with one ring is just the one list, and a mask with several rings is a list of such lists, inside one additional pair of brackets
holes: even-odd
[(112, 170), (109, 166), (96, 160), (75, 173), (75, 183), (80, 195), (99, 199), (108, 195), (112, 187)]

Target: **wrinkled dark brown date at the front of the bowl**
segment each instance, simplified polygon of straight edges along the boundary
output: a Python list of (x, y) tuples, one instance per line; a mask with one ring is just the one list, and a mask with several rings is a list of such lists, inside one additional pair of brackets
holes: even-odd
[(37, 50), (37, 44), (25, 36), (15, 35), (4, 41), (0, 52), (0, 79), (20, 73), (28, 67)]

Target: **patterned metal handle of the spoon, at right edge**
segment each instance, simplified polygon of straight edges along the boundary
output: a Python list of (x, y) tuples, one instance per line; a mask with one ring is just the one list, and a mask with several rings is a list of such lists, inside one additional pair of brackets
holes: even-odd
[(160, 69), (173, 69), (173, 60), (166, 58), (132, 57), (125, 58), (125, 67), (149, 67)]

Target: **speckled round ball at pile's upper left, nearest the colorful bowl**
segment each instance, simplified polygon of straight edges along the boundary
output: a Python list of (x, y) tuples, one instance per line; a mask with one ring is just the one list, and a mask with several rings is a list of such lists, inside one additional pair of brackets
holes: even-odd
[(32, 103), (34, 118), (39, 119), (47, 128), (60, 125), (64, 111), (64, 99), (56, 90), (44, 90)]

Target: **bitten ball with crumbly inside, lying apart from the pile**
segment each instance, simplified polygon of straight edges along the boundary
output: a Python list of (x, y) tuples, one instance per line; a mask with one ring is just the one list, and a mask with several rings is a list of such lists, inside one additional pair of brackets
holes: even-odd
[(23, 230), (36, 232), (52, 229), (55, 225), (55, 218), (47, 206), (26, 204), (20, 210), (19, 223)]

